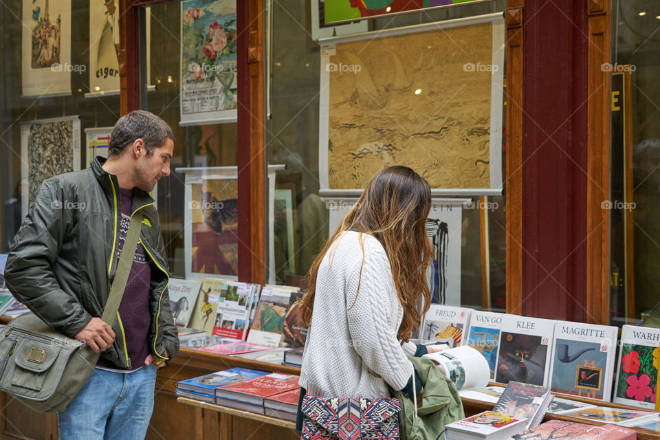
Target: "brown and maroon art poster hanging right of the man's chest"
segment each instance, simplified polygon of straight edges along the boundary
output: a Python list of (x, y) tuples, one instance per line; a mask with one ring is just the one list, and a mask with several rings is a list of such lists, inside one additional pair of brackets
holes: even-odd
[(239, 185), (236, 167), (186, 173), (186, 279), (216, 275), (238, 279)]

